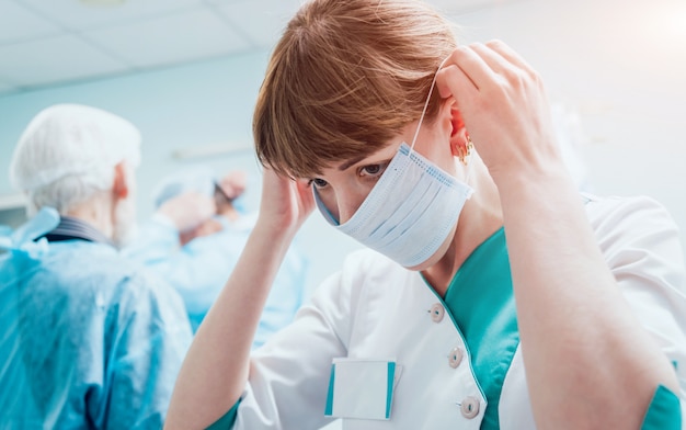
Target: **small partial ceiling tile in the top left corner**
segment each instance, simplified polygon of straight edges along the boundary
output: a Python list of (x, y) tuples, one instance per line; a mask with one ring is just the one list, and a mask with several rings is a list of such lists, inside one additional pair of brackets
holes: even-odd
[(60, 29), (10, 0), (0, 0), (0, 44), (54, 35)]

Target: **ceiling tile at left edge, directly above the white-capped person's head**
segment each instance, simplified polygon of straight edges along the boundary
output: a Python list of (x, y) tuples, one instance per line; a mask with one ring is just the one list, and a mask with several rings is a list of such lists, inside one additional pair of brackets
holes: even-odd
[(0, 46), (2, 76), (39, 86), (124, 71), (126, 68), (76, 36)]

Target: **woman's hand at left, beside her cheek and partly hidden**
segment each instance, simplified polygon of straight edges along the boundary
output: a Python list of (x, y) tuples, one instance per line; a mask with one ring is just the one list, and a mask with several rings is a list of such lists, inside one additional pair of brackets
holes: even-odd
[(264, 168), (260, 223), (295, 235), (313, 208), (315, 197), (307, 180), (294, 180)]

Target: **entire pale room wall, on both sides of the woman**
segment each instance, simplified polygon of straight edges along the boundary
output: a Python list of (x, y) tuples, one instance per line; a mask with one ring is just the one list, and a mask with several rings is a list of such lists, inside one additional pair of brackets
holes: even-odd
[[(524, 0), (455, 21), (462, 25), (464, 42), (505, 41), (541, 72), (552, 100), (578, 109), (588, 136), (581, 157), (596, 193), (661, 201), (686, 245), (683, 1)], [(267, 54), (0, 98), (0, 171), (7, 172), (16, 138), (41, 109), (57, 102), (101, 106), (142, 131), (139, 201), (145, 217), (155, 181), (190, 163), (172, 159), (174, 149), (222, 142), (250, 148), (252, 108)], [(250, 149), (194, 162), (219, 171), (248, 168), (249, 205), (256, 206), (260, 174)], [(7, 174), (0, 174), (0, 195), (10, 191)], [(317, 215), (298, 239), (310, 256), (310, 288), (358, 248)]]

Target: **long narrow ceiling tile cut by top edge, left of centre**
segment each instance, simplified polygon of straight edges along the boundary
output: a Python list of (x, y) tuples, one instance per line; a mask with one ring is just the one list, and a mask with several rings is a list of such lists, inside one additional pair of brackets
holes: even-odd
[(23, 1), (46, 18), (70, 30), (99, 29), (202, 4), (201, 0), (130, 0), (114, 5), (94, 5), (84, 0)]

